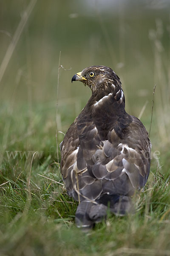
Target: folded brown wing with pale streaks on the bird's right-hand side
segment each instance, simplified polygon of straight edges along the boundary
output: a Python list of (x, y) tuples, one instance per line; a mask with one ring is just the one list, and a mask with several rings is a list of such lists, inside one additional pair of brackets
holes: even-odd
[[(120, 177), (126, 174), (134, 189), (142, 188), (150, 170), (150, 140), (142, 122), (134, 116), (130, 125), (122, 130), (121, 139), (114, 129), (104, 145), (106, 169), (115, 172), (116, 165), (121, 167)], [(111, 155), (116, 149), (116, 155)], [(108, 162), (109, 160), (109, 162)], [(108, 162), (108, 163), (107, 163)], [(115, 167), (114, 167), (115, 166)], [(120, 169), (119, 169), (120, 170)], [(116, 183), (116, 180), (113, 180)]]

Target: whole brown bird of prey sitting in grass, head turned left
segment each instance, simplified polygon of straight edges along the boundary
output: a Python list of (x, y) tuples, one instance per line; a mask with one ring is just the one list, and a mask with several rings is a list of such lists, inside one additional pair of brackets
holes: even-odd
[(149, 175), (151, 144), (142, 122), (126, 113), (111, 68), (87, 67), (71, 81), (82, 81), (92, 95), (60, 144), (61, 173), (68, 195), (79, 201), (77, 227), (91, 228), (108, 210), (133, 212), (131, 197)]

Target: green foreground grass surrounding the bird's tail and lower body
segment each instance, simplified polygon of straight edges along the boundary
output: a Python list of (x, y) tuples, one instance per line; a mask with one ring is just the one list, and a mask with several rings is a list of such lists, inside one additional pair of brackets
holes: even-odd
[(66, 195), (57, 164), (50, 157), (4, 161), (0, 169), (0, 255), (170, 255), (170, 170), (151, 169), (136, 213), (109, 215), (90, 233), (74, 224), (77, 203)]

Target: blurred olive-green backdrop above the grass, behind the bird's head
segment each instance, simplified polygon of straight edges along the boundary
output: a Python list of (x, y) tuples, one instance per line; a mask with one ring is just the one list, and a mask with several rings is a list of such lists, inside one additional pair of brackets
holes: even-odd
[[(28, 3), (0, 2), (1, 63)], [(156, 124), (154, 112), (153, 122), (159, 126), (161, 118), (164, 131), (158, 127), (157, 133), (161, 140), (164, 132), (169, 138), (169, 115), (168, 124), (162, 116), (170, 92), (169, 11), (169, 1), (37, 1), (0, 82), (1, 114), (10, 108), (16, 119), (28, 111), (34, 122), (37, 111), (43, 111), (42, 128), (47, 122), (55, 126), (61, 52), (60, 65), (66, 70), (59, 70), (59, 130), (67, 130), (91, 94), (82, 84), (71, 84), (71, 77), (85, 67), (105, 65), (120, 77), (130, 114), (139, 116), (148, 101), (142, 116), (147, 130), (156, 84), (158, 120)], [(20, 136), (21, 128), (16, 123)]]

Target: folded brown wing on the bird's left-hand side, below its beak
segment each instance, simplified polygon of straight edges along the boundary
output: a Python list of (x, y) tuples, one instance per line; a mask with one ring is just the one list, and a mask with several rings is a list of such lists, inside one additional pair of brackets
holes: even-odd
[(78, 200), (78, 194), (82, 194), (81, 200), (95, 200), (102, 192), (101, 181), (88, 173), (88, 165), (94, 164), (92, 156), (99, 143), (99, 135), (92, 119), (87, 114), (83, 115), (82, 111), (78, 124), (75, 119), (61, 145), (62, 177), (68, 194), (75, 200)]

